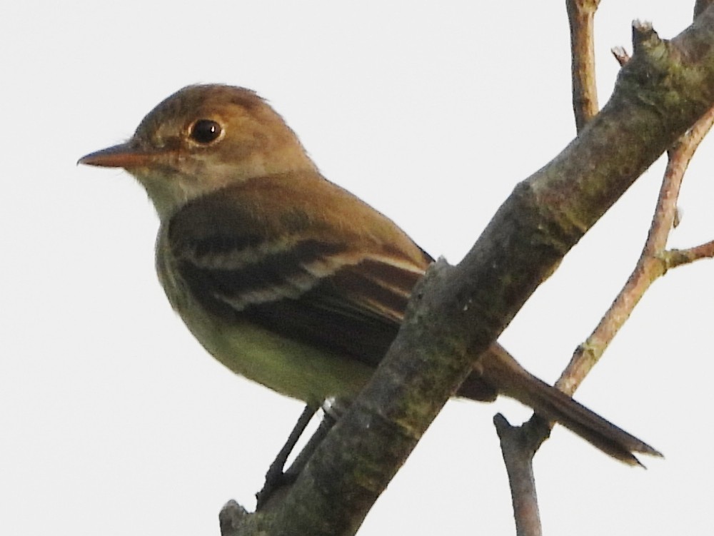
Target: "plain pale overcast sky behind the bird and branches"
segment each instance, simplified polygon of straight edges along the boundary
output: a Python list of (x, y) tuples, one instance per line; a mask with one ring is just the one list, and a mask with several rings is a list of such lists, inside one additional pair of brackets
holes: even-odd
[[(458, 262), (518, 181), (573, 137), (558, 2), (16, 1), (0, 19), (0, 533), (217, 535), (253, 494), (302, 405), (231, 374), (171, 310), (158, 221), (123, 171), (77, 159), (131, 136), (197, 82), (255, 89), (332, 181)], [(630, 21), (663, 37), (693, 2), (603, 1), (600, 102)], [(714, 237), (711, 140), (670, 246)], [(552, 382), (627, 278), (663, 163), (565, 258), (501, 341)], [(710, 530), (714, 263), (655, 283), (577, 398), (665, 453), (620, 465), (556, 428), (536, 458), (548, 535)], [(363, 536), (513, 534), (491, 419), (449, 403)]]

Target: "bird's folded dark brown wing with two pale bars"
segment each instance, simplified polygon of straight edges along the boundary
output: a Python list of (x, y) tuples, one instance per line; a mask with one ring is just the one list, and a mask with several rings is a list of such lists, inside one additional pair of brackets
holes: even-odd
[[(376, 365), (431, 258), (387, 218), (319, 176), (258, 180), (174, 216), (169, 247), (181, 278), (223, 320), (248, 318)], [(324, 184), (305, 195), (300, 186), (308, 180)], [(286, 196), (290, 203), (276, 205)], [(348, 217), (332, 218), (331, 206)]]

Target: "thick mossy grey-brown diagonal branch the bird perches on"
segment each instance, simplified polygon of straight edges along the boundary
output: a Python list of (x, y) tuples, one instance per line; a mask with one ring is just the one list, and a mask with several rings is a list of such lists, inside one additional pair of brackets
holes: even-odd
[(456, 267), (437, 263), (371, 382), (318, 447), (267, 534), (351, 535), (473, 365), (560, 258), (714, 103), (714, 11), (669, 43), (646, 27), (615, 93), (516, 187)]

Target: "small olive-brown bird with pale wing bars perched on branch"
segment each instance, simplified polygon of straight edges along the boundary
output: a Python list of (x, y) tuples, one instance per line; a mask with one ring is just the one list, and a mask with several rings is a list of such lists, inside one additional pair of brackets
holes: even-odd
[[(234, 373), (316, 408), (350, 400), (433, 258), (328, 181), (266, 100), (223, 84), (161, 101), (125, 143), (79, 163), (124, 168), (154, 204), (171, 306)], [(528, 373), (498, 342), (457, 396), (506, 395), (629, 465), (660, 452)]]

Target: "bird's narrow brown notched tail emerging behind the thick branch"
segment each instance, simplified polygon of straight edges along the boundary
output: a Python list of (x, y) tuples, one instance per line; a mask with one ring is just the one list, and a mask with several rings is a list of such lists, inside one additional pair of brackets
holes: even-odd
[(481, 390), (481, 396), (470, 396), (469, 379), (466, 380), (463, 386), (465, 389), (462, 389), (464, 392), (459, 393), (460, 395), (483, 400), (483, 383), (486, 383), (498, 390), (498, 394), (530, 406), (543, 418), (557, 421), (603, 452), (629, 465), (642, 465), (635, 457), (635, 452), (661, 456), (658, 450), (647, 443), (535, 378), (498, 343), (481, 356), (478, 369), (481, 378), (478, 378), (474, 385), (477, 390)]

